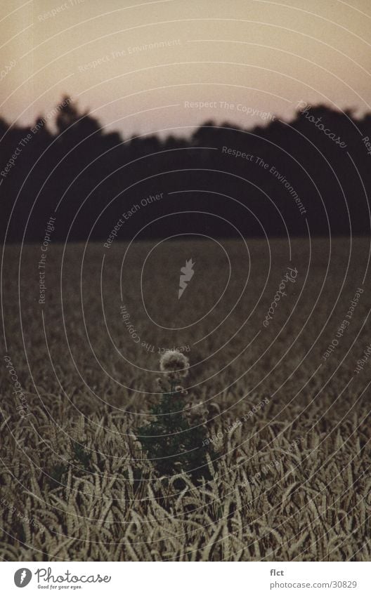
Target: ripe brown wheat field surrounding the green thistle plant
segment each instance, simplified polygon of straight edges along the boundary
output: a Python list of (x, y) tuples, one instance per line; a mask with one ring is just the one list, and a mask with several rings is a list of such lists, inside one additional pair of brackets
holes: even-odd
[[(39, 246), (6, 247), (1, 559), (370, 560), (368, 242), (221, 244), (51, 243), (45, 303)], [(217, 452), (208, 481), (157, 477), (136, 440), (174, 346), (185, 415)]]

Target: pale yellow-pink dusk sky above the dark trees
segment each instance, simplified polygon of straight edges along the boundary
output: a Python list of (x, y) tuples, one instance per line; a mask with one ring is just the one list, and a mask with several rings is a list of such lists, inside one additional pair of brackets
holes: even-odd
[(2, 0), (0, 36), (14, 124), (66, 94), (125, 137), (371, 111), (370, 0)]

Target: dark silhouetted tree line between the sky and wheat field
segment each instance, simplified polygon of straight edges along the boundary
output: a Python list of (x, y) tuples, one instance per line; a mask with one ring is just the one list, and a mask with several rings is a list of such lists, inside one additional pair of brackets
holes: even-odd
[(53, 124), (0, 119), (2, 239), (39, 242), (55, 216), (53, 241), (105, 241), (136, 204), (118, 239), (370, 233), (371, 114), (318, 105), (250, 130), (208, 121), (190, 136), (123, 138), (65, 100)]

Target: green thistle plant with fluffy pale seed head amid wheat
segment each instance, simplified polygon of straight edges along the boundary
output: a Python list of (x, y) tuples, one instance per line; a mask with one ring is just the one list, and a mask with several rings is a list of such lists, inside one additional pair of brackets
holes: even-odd
[(162, 397), (150, 410), (155, 420), (138, 428), (138, 440), (159, 475), (187, 472), (194, 481), (208, 479), (206, 452), (212, 458), (214, 451), (203, 444), (207, 429), (190, 425), (183, 413), (188, 392), (182, 383), (189, 372), (188, 358), (178, 350), (168, 350), (160, 358), (160, 371), (157, 383)]

